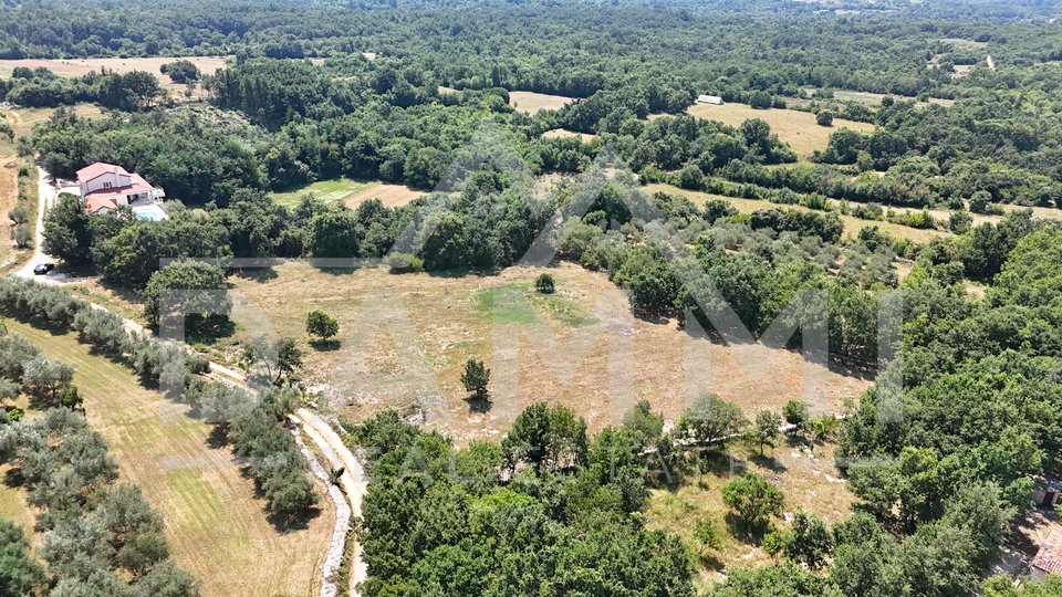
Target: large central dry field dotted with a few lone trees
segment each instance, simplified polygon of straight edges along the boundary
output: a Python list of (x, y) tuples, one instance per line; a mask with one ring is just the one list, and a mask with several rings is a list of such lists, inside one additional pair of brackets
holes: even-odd
[[(543, 271), (555, 294), (534, 292)], [(238, 337), (298, 338), (304, 381), (321, 401), (354, 420), (387, 406), (420, 409), (428, 427), (460, 443), (500, 434), (542, 400), (573, 408), (596, 430), (621, 422), (638, 399), (676, 420), (705, 391), (754, 416), (809, 390), (816, 412), (833, 413), (868, 386), (793, 352), (723, 346), (675, 321), (636, 318), (605, 274), (569, 263), (450, 276), (291, 262), (231, 280)], [(312, 310), (339, 320), (337, 346), (308, 344)], [(460, 376), (469, 358), (492, 370), (489, 409), (466, 401)]]

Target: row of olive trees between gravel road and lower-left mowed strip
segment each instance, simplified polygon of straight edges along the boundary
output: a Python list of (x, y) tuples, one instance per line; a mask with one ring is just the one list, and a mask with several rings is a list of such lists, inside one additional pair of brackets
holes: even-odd
[[(256, 397), (240, 388), (208, 383), (202, 374), (209, 370), (209, 362), (202, 356), (177, 344), (129, 334), (119, 316), (59, 287), (13, 276), (0, 279), (0, 308), (76, 331), (81, 342), (129, 366), (146, 386), (190, 405), (192, 416), (220, 426), (237, 455), (247, 459), (248, 472), (278, 524), (290, 523), (316, 504), (306, 463), (285, 427), (288, 415), (301, 399), (298, 391), (271, 388)], [(55, 385), (43, 389), (62, 399), (62, 386), (56, 389)]]

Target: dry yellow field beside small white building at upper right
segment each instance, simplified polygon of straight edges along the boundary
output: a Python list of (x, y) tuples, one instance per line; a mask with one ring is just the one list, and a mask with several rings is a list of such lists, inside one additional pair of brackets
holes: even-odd
[(798, 109), (753, 109), (746, 104), (694, 104), (686, 111), (698, 118), (720, 121), (731, 126), (741, 126), (749, 118), (759, 118), (771, 125), (771, 132), (788, 143), (800, 157), (810, 156), (815, 149), (825, 149), (830, 135), (841, 128), (851, 128), (860, 133), (874, 130), (874, 125), (834, 118), (833, 126), (819, 126), (815, 115)]

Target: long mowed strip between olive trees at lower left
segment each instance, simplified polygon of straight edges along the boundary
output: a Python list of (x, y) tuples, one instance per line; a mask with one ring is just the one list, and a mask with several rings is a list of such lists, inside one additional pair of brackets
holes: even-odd
[(211, 426), (144, 389), (127, 368), (90, 354), (74, 335), (7, 323), (75, 368), (88, 422), (106, 439), (122, 479), (140, 485), (163, 513), (177, 563), (201, 582), (204, 595), (316, 595), (334, 524), (327, 499), (305, 528), (278, 532), (230, 449), (211, 447)]

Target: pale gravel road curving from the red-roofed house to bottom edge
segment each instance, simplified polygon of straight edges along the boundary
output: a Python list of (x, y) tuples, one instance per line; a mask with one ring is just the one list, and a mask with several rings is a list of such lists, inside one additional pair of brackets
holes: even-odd
[[(33, 243), (33, 256), (14, 272), (14, 275), (20, 277), (30, 277), (35, 279), (39, 282), (44, 282), (49, 284), (62, 284), (69, 282), (63, 274), (56, 274), (52, 272), (48, 275), (34, 275), (33, 268), (39, 263), (44, 263), (49, 261), (54, 261), (51, 256), (44, 254), (41, 250), (44, 241), (44, 217), (48, 213), (48, 210), (55, 205), (55, 198), (59, 197), (59, 193), (63, 189), (69, 187), (56, 188), (52, 184), (52, 179), (49, 174), (38, 166), (39, 172), (39, 197), (37, 206), (37, 230), (35, 238)], [(76, 187), (73, 188), (74, 192)], [(105, 307), (97, 305), (95, 303), (88, 302), (94, 308), (101, 308), (106, 311)], [(150, 335), (152, 332), (146, 329), (140, 324), (122, 318), (125, 322), (126, 331), (135, 334), (146, 334)], [(190, 349), (190, 347), (189, 347)], [(238, 371), (225, 365), (210, 362), (210, 374), (212, 377), (241, 386), (246, 389), (251, 389), (247, 385), (247, 378), (242, 371)], [(346, 494), (346, 500), (351, 504), (351, 511), (354, 516), (361, 517), (362, 515), (362, 499), (365, 496), (365, 491), (367, 489), (368, 482), (365, 478), (365, 469), (362, 467), (361, 461), (357, 457), (354, 455), (354, 452), (343, 442), (343, 439), (340, 437), (332, 427), (325, 422), (320, 416), (314, 412), (311, 412), (309, 409), (300, 408), (298, 411), (291, 415), (292, 420), (302, 427), (303, 431), (306, 432), (306, 436), (313, 441), (317, 449), (327, 458), (329, 463), (332, 469), (344, 469), (343, 474), (340, 476), (340, 486), (343, 489), (343, 493)], [(362, 546), (354, 541), (354, 554), (351, 558), (351, 586), (350, 595), (352, 597), (361, 597), (361, 593), (357, 590), (357, 585), (365, 580), (367, 577), (367, 566), (362, 559)]]

